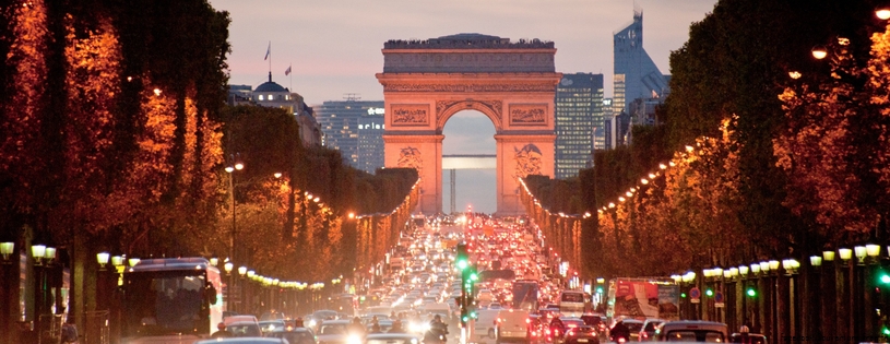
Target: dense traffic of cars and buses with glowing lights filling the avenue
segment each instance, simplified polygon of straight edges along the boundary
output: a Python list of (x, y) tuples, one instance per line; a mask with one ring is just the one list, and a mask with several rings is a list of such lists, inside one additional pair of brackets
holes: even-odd
[[(143, 260), (122, 286), (129, 310), (122, 343), (766, 343), (731, 335), (722, 323), (679, 321), (678, 288), (669, 278), (614, 278), (603, 300), (608, 307), (594, 307), (590, 294), (566, 288), (553, 273), (558, 260), (524, 218), (471, 214), (412, 223), (415, 229), (391, 251), (385, 276), (359, 295), (332, 295), (324, 309), (294, 318), (224, 317), (219, 271), (206, 260)], [(474, 315), (466, 323), (456, 242), (467, 247), (480, 276), (466, 295)], [(222, 332), (235, 339), (209, 340)]]

